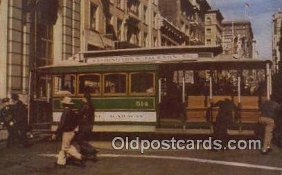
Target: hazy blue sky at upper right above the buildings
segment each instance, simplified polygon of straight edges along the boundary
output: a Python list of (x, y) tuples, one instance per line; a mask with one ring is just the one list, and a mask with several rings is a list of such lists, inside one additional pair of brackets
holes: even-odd
[[(258, 57), (272, 57), (272, 15), (282, 10), (282, 0), (207, 0), (222, 12), (224, 20), (249, 19), (252, 22)], [(249, 4), (246, 8), (245, 3)], [(247, 14), (245, 12), (247, 9)], [(247, 17), (249, 16), (249, 17)]]

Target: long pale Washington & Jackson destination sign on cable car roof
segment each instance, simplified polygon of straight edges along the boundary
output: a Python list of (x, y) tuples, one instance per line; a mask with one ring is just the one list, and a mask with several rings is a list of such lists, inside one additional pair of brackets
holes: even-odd
[(126, 55), (116, 57), (89, 57), (89, 64), (124, 64), (124, 63), (148, 63), (148, 62), (175, 62), (197, 59), (197, 53), (170, 54), (170, 55)]

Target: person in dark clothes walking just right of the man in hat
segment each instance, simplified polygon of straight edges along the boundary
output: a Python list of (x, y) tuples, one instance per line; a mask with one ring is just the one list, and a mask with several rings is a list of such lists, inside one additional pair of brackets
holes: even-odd
[(94, 125), (95, 108), (91, 103), (91, 95), (85, 93), (82, 98), (82, 107), (79, 111), (80, 122), (77, 134), (78, 145), (80, 145), (80, 153), (87, 159), (96, 160), (96, 149), (89, 144), (89, 137), (92, 134)]

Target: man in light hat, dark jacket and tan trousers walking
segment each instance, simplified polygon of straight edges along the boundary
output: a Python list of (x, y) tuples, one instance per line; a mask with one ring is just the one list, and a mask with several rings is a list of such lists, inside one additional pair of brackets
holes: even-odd
[(62, 148), (58, 156), (57, 164), (66, 165), (67, 156), (71, 156), (78, 160), (80, 166), (84, 166), (84, 158), (78, 152), (76, 147), (74, 147), (71, 142), (75, 136), (76, 127), (78, 127), (79, 117), (71, 108), (73, 105), (72, 99), (69, 97), (64, 97), (61, 101), (64, 107), (64, 112), (62, 113), (60, 124), (57, 131), (52, 135), (52, 139), (55, 140), (56, 136), (62, 135)]

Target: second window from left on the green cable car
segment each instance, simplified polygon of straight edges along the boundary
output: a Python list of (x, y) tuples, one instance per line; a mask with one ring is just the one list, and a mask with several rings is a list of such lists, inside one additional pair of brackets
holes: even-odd
[(78, 93), (91, 93), (93, 95), (100, 94), (100, 75), (79, 75), (78, 77), (79, 89)]

